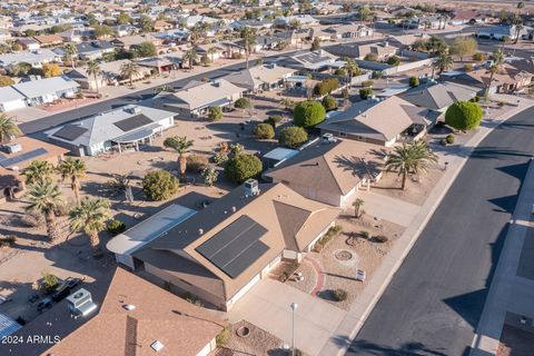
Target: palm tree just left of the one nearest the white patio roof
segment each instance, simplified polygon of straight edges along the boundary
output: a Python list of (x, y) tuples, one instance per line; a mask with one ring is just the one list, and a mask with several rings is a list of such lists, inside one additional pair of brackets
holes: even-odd
[(58, 185), (50, 179), (36, 181), (30, 185), (24, 196), (30, 202), (26, 210), (42, 214), (47, 222), (48, 237), (51, 240), (57, 238), (59, 231), (56, 226), (55, 209), (62, 201)]

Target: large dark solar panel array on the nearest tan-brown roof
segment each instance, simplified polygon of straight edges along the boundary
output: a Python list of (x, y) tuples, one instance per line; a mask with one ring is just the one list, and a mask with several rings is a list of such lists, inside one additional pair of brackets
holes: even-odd
[(259, 239), (267, 229), (244, 215), (197, 247), (197, 251), (231, 278), (238, 277), (269, 247)]

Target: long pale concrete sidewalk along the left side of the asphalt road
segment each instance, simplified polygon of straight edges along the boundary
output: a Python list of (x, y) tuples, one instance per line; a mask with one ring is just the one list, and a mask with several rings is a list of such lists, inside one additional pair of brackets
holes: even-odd
[(356, 298), (352, 308), (339, 324), (339, 327), (333, 333), (328, 343), (320, 350), (320, 356), (344, 355), (346, 353), (352, 340), (356, 337), (389, 281), (395, 276), (395, 273), (402, 266), (404, 259), (417, 241), (421, 233), (439, 206), (442, 199), (447, 194), (449, 187), (453, 185), (473, 150), (494, 128), (513, 117), (515, 113), (531, 107), (533, 103), (532, 100), (523, 99), (520, 106), (503, 113), (501, 117), (493, 118), (491, 121), (484, 120), (483, 125), (478, 128), (478, 131), (469, 139), (469, 141), (463, 147), (456, 148), (458, 150), (456, 155), (454, 155), (454, 152), (448, 152), (447, 170), (434, 187), (411, 225), (395, 243), (390, 253), (385, 256), (380, 266), (373, 274), (364, 293)]

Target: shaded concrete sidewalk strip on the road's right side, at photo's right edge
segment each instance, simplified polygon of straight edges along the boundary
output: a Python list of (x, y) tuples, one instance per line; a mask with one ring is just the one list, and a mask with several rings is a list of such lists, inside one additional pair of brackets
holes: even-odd
[[(525, 238), (528, 233), (531, 236), (533, 233), (531, 222), (533, 202), (534, 165), (531, 160), (473, 339), (472, 356), (496, 354), (507, 312), (534, 317), (534, 280), (517, 276), (522, 275), (522, 269), (530, 269), (534, 260), (532, 250), (527, 257), (523, 254)], [(530, 264), (522, 264), (520, 267), (520, 261), (525, 258)]]

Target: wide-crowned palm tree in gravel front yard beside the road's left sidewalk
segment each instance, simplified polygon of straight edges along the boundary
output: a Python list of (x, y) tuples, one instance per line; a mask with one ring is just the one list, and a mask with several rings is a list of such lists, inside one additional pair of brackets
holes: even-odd
[(399, 176), (403, 176), (400, 189), (404, 190), (407, 175), (418, 175), (422, 171), (426, 171), (431, 162), (437, 162), (437, 156), (425, 141), (418, 140), (395, 147), (387, 157), (385, 167), (387, 171), (397, 171)]

